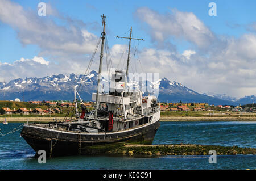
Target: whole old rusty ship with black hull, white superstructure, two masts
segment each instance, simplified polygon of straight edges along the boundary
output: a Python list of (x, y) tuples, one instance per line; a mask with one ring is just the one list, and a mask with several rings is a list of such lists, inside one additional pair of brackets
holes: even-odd
[[(110, 75), (109, 93), (100, 92), (102, 57), (106, 42), (105, 19), (106, 16), (103, 15), (97, 92), (92, 94), (92, 101), (96, 102), (96, 106), (88, 111), (81, 104), (80, 113), (76, 99), (79, 92), (75, 86), (75, 118), (65, 117), (60, 122), (24, 124), (20, 135), (36, 153), (44, 150), (48, 157), (101, 154), (123, 144), (152, 144), (160, 127), (160, 107), (154, 95), (142, 96), (140, 90), (127, 91), (130, 44), (126, 73), (115, 70)], [(130, 42), (133, 39), (131, 31), (127, 39)], [(81, 98), (80, 100), (83, 103)]]

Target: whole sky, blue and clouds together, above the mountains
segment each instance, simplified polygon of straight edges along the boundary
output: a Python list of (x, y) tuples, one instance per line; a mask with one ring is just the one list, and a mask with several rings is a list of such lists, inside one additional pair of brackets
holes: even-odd
[[(38, 15), (40, 2), (46, 3), (46, 16)], [(211, 2), (216, 16), (209, 15)], [(253, 0), (0, 0), (0, 82), (83, 74), (104, 14), (113, 68), (122, 68), (127, 56), (128, 41), (116, 36), (129, 36), (133, 27), (133, 37), (145, 41), (132, 41), (130, 70), (159, 73), (201, 94), (254, 95), (255, 5)], [(98, 56), (92, 70), (98, 71)]]

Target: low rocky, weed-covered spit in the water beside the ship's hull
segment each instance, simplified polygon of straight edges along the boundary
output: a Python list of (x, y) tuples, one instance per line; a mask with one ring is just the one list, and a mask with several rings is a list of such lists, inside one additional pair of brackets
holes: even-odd
[(215, 150), (217, 155), (256, 154), (255, 148), (240, 148), (238, 146), (216, 145), (123, 145), (110, 150), (109, 155), (208, 155), (210, 150)]

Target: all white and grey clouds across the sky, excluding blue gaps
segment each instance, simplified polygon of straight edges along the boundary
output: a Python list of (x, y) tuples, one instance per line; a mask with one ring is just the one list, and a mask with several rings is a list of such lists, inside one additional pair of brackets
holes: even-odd
[[(35, 44), (40, 48), (40, 53), (33, 58), (0, 63), (0, 81), (84, 73), (99, 37), (89, 32), (84, 22), (65, 18), (53, 7), (48, 13), (49, 16), (39, 17), (37, 12), (24, 10), (18, 3), (0, 1), (1, 22), (13, 27), (24, 45)], [(59, 26), (51, 16), (60, 18), (67, 26)], [(220, 37), (192, 12), (178, 10), (160, 14), (142, 7), (137, 9), (135, 16), (147, 24), (152, 41), (164, 45), (138, 50), (142, 71), (159, 72), (159, 77), (180, 82), (200, 93), (210, 91), (232, 96), (255, 94), (256, 36), (253, 32), (238, 38)], [(191, 47), (180, 54), (170, 41), (172, 39), (188, 41)], [(122, 44), (110, 48), (114, 68), (117, 68), (122, 54), (120, 66), (126, 65), (126, 51), (127, 45)], [(94, 59), (91, 70), (98, 71), (99, 58)], [(131, 56), (130, 70), (139, 68), (140, 63)]]

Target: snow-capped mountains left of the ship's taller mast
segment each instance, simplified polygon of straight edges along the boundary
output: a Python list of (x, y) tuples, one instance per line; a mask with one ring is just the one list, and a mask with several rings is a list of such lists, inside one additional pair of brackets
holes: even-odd
[(88, 75), (75, 74), (51, 75), (43, 78), (14, 79), (0, 84), (0, 99), (10, 100), (73, 100), (73, 87), (84, 86), (81, 96), (91, 97), (97, 87), (98, 73), (91, 71)]

